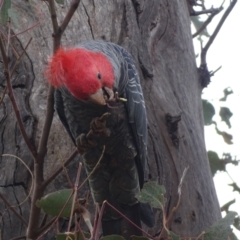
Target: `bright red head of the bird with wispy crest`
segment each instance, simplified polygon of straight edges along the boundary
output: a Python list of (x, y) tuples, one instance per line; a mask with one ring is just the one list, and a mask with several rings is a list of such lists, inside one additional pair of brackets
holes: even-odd
[(46, 72), (49, 83), (64, 85), (79, 100), (88, 99), (102, 87), (113, 88), (114, 72), (108, 58), (84, 48), (60, 48), (51, 58)]

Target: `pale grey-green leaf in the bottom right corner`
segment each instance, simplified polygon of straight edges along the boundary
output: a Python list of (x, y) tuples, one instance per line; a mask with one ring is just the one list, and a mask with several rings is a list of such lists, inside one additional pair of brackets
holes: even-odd
[(231, 234), (230, 225), (233, 224), (235, 212), (229, 212), (223, 219), (213, 224), (205, 233), (204, 240), (226, 240)]

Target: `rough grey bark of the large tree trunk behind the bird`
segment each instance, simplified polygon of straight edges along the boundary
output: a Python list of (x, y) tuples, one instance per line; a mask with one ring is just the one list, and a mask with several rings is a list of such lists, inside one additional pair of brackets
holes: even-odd
[[(21, 28), (40, 21), (30, 31), (19, 35), (26, 45), (33, 37), (28, 56), (24, 56), (13, 76), (13, 87), (28, 135), (36, 144), (39, 141), (46, 110), (47, 83), (44, 69), (52, 52), (50, 16), (43, 1), (16, 0)], [(69, 7), (69, 1), (58, 7), (59, 22)], [(176, 205), (177, 187), (185, 167), (189, 166), (183, 183), (181, 204), (174, 214), (171, 230), (176, 234), (197, 236), (220, 218), (212, 176), (209, 170), (203, 134), (201, 85), (198, 79), (195, 55), (190, 32), (190, 19), (184, 0), (82, 0), (77, 12), (64, 33), (62, 44), (73, 46), (89, 39), (115, 42), (133, 55), (138, 66), (144, 91), (149, 128), (147, 178), (164, 185), (169, 214)], [(18, 40), (12, 44), (21, 52)], [(14, 56), (11, 56), (13, 61)], [(1, 75), (0, 91), (5, 83)], [(169, 129), (169, 116), (181, 115), (178, 132)], [(30, 167), (32, 158), (21, 135), (11, 103), (6, 96), (0, 108), (1, 153), (15, 154)], [(169, 120), (168, 120), (169, 123)], [(59, 153), (67, 157), (74, 149), (59, 119), (54, 118), (48, 144), (45, 176), (59, 165)], [(70, 168), (72, 178), (76, 162)], [(74, 165), (75, 164), (75, 165)], [(0, 191), (12, 205), (27, 196), (30, 177), (15, 158), (0, 158)], [(67, 187), (61, 175), (46, 192)], [(28, 220), (30, 200), (16, 207)], [(24, 235), (26, 229), (0, 200), (3, 239)], [(161, 214), (156, 214), (160, 231)], [(12, 231), (14, 229), (14, 232)]]

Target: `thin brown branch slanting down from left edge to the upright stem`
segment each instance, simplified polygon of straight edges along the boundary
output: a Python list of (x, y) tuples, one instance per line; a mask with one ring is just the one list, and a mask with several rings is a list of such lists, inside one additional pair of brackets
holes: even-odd
[[(27, 45), (28, 46), (28, 45)], [(2, 42), (2, 37), (0, 37), (0, 49), (1, 49), (1, 53), (2, 53), (2, 58), (3, 58), (3, 65), (4, 65), (4, 74), (6, 77), (6, 82), (7, 82), (7, 88), (8, 88), (8, 95), (9, 98), (12, 102), (13, 105), (13, 109), (17, 118), (17, 122), (21, 131), (21, 134), (24, 138), (24, 141), (26, 142), (30, 152), (32, 153), (34, 158), (37, 158), (37, 151), (35, 149), (35, 146), (32, 144), (32, 142), (30, 141), (30, 139), (27, 136), (27, 133), (25, 131), (23, 122), (22, 122), (22, 118), (19, 112), (19, 108), (17, 106), (15, 97), (14, 97), (14, 93), (13, 93), (13, 89), (12, 89), (12, 84), (11, 84), (11, 79), (10, 79), (10, 75), (9, 75), (9, 67), (8, 67), (8, 57), (6, 55), (4, 46), (3, 46), (3, 42)], [(24, 48), (24, 52), (26, 51), (27, 48)]]

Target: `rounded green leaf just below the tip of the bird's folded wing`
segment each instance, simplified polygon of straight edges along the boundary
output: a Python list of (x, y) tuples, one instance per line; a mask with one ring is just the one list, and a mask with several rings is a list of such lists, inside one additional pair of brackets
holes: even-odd
[(148, 182), (143, 185), (140, 193), (136, 195), (139, 202), (149, 203), (154, 208), (163, 209), (166, 202), (164, 186), (157, 182)]

